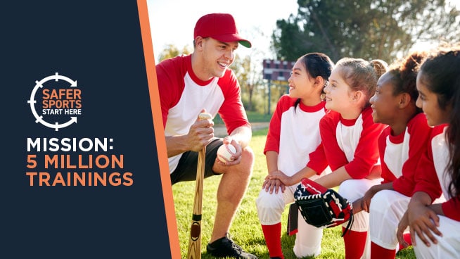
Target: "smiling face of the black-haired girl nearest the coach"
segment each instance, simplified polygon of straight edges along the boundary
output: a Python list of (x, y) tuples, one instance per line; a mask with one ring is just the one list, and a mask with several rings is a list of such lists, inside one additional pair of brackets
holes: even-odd
[[(289, 96), (292, 98), (307, 99), (317, 91), (314, 88), (315, 80), (312, 78), (305, 68), (302, 59), (295, 62), (293, 72), (289, 79)], [(315, 96), (319, 96), (316, 94)]]

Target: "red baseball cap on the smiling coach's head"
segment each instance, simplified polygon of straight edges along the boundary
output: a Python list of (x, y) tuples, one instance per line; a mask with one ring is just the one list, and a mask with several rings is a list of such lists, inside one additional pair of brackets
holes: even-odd
[(238, 34), (234, 17), (229, 13), (210, 13), (202, 16), (196, 22), (193, 36), (194, 39), (198, 36), (211, 37), (220, 42), (239, 42), (246, 48), (251, 47), (251, 43)]

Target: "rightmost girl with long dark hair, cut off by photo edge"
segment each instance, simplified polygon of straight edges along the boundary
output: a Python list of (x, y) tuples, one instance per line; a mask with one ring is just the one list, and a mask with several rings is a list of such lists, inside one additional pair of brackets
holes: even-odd
[[(416, 104), (434, 128), (397, 238), (405, 244), (402, 231), (409, 225), (417, 258), (459, 258), (460, 46), (429, 56), (417, 75), (417, 89)], [(447, 201), (433, 203), (441, 191)]]

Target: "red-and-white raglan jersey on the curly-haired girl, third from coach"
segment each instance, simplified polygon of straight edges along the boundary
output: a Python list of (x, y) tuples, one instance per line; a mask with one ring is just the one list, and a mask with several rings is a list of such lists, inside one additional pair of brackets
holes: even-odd
[(386, 127), (378, 139), (382, 163), (382, 183), (392, 182), (393, 189), (411, 196), (415, 187), (414, 174), (421, 156), (426, 152), (431, 127), (426, 116), (419, 113), (407, 122), (404, 132), (397, 136)]

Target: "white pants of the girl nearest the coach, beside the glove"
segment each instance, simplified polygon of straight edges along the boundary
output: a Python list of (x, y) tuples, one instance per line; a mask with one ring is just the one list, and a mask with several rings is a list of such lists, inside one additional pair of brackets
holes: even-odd
[[(260, 224), (275, 225), (281, 222), (281, 215), (286, 206), (294, 202), (294, 191), (297, 189), (297, 184), (291, 187), (286, 187), (286, 191), (278, 194), (274, 192), (270, 194), (265, 189), (259, 193), (255, 204), (257, 206), (257, 215), (259, 216)], [(280, 233), (281, 234), (281, 233)], [(323, 237), (323, 229), (319, 229), (312, 225), (308, 225), (298, 213), (298, 233), (295, 234), (295, 244), (293, 251), (298, 258), (321, 253), (321, 239)]]

